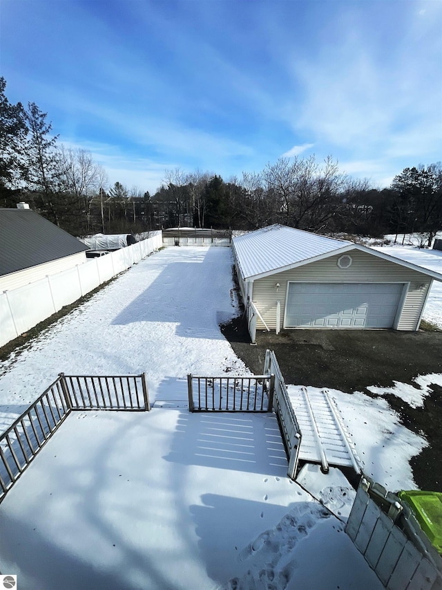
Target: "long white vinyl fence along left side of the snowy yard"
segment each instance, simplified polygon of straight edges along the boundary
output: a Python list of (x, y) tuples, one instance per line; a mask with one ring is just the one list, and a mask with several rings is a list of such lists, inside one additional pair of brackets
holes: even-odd
[(0, 347), (162, 247), (162, 232), (0, 294)]

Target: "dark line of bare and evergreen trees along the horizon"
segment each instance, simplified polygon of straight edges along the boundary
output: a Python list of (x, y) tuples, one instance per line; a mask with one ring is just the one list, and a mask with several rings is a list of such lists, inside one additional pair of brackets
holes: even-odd
[(320, 233), (381, 236), (419, 232), (430, 243), (442, 228), (441, 163), (405, 168), (390, 187), (342, 172), (329, 156), (280, 158), (229, 180), (199, 170), (166, 170), (151, 196), (122, 183), (84, 149), (59, 145), (35, 103), (6, 98), (0, 78), (0, 206), (28, 201), (75, 235), (171, 227), (253, 230), (282, 223)]

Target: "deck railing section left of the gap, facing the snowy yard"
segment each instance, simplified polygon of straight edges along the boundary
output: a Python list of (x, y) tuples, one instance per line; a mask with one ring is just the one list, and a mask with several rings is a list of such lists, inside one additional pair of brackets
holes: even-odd
[(60, 375), (72, 409), (151, 409), (146, 376)]

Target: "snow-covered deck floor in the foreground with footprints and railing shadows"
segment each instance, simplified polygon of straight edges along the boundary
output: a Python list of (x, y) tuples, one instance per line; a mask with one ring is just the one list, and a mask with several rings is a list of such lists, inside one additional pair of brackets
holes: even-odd
[[(0, 506), (2, 573), (28, 590), (211, 589), (247, 575), (294, 509), (291, 548), (323, 537), (328, 581), (311, 587), (378, 587), (343, 523), (287, 478), (273, 415), (174, 405), (69, 416)], [(287, 578), (315, 570), (302, 560)]]

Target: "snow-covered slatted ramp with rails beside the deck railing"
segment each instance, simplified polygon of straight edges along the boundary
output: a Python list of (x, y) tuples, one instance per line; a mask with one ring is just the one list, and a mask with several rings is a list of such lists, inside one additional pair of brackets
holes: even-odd
[(289, 398), (302, 432), (300, 461), (319, 463), (325, 473), (332, 465), (353, 468), (361, 474), (361, 460), (328, 391), (309, 392), (301, 387), (292, 389)]

